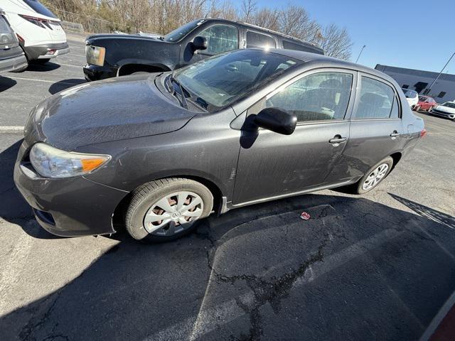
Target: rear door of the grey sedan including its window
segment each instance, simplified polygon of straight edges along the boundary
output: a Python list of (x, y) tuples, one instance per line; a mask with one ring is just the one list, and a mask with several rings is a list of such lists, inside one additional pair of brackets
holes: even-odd
[(332, 176), (357, 178), (405, 143), (401, 104), (389, 82), (359, 72), (349, 141)]

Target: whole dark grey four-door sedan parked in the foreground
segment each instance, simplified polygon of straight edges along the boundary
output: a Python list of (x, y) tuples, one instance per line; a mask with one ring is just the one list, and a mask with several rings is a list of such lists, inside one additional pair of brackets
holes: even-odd
[(133, 238), (165, 241), (210, 212), (346, 185), (367, 193), (424, 134), (382, 72), (242, 49), (48, 97), (14, 181), (53, 234), (111, 234), (126, 212)]

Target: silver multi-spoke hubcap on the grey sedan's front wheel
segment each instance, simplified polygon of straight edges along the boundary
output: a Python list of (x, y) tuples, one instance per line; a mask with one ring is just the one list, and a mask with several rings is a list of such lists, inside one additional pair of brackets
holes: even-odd
[(161, 197), (144, 216), (144, 229), (157, 236), (172, 236), (188, 229), (203, 214), (203, 200), (193, 192), (181, 191)]

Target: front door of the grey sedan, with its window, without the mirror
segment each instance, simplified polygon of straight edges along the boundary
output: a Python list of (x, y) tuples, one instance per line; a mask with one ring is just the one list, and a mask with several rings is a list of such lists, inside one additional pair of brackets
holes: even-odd
[(265, 129), (243, 132), (233, 204), (326, 184), (349, 139), (349, 122), (344, 118), (353, 105), (353, 88), (354, 72), (313, 71), (251, 107), (248, 115), (264, 107), (294, 112), (298, 123), (289, 136)]

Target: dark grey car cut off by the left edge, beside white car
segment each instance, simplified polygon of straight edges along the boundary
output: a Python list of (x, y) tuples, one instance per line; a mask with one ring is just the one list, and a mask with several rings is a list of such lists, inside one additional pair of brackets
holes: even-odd
[(9, 26), (5, 12), (0, 9), (0, 73), (21, 70), (27, 65), (16, 34)]

